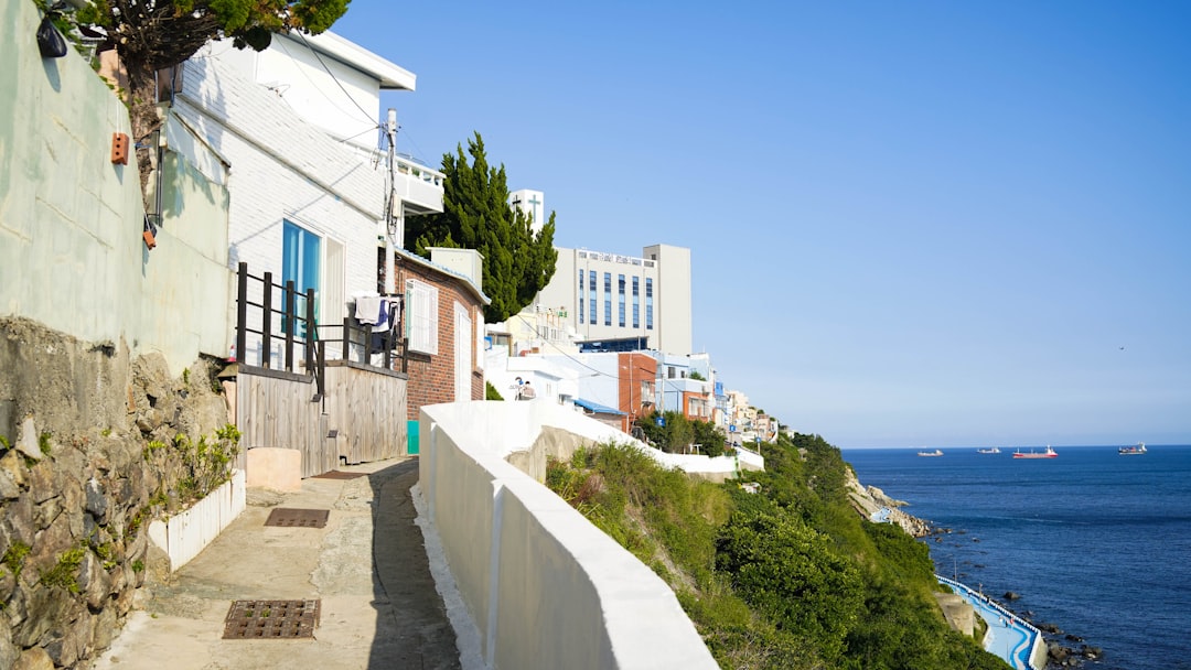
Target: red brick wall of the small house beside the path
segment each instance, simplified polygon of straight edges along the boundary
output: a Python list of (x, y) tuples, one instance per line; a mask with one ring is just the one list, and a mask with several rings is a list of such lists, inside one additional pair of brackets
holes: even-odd
[[(475, 328), (484, 327), (482, 305), (474, 294), (455, 277), (436, 273), (413, 263), (401, 263), (398, 258), (397, 290), (405, 292), (405, 281), (420, 280), (438, 289), (438, 353), (425, 356), (410, 353), (407, 384), (409, 418), (417, 419), (423, 405), (455, 402), (456, 400), (484, 400), (484, 370), (476, 365)], [(470, 397), (455, 397), (455, 303), (464, 306), (472, 318), (472, 332), (467, 333), (467, 345), (472, 347)], [(406, 315), (403, 315), (403, 319)], [(404, 321), (403, 321), (404, 323)]]

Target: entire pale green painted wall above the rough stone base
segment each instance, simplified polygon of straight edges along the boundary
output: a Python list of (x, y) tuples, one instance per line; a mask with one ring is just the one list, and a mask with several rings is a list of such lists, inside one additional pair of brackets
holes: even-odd
[(43, 60), (39, 21), (31, 0), (0, 2), (0, 315), (160, 351), (175, 374), (226, 355), (226, 190), (174, 161), (148, 251), (135, 159), (110, 161), (127, 109), (73, 50)]

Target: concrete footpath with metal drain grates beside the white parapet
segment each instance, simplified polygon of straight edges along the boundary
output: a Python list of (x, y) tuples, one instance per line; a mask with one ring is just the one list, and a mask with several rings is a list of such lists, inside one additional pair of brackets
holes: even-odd
[[(417, 458), (249, 490), (248, 508), (129, 616), (99, 670), (344, 668), (457, 670), (455, 633), (430, 576), (410, 487)], [(264, 526), (273, 507), (329, 509), (324, 528)], [(314, 639), (225, 640), (233, 600), (322, 600)]]

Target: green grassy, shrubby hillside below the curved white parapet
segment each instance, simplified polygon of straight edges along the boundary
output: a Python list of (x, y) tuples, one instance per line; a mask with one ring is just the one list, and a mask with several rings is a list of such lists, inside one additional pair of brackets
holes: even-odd
[(781, 436), (763, 456), (759, 494), (617, 445), (547, 484), (671, 584), (722, 668), (1008, 668), (943, 621), (927, 547), (852, 509), (840, 450)]

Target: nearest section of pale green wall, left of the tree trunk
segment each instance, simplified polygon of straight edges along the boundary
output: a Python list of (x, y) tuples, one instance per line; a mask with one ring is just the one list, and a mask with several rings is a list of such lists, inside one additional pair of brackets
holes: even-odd
[(137, 167), (108, 159), (127, 111), (73, 50), (42, 58), (38, 21), (32, 2), (0, 10), (0, 313), (114, 343), (148, 261)]

